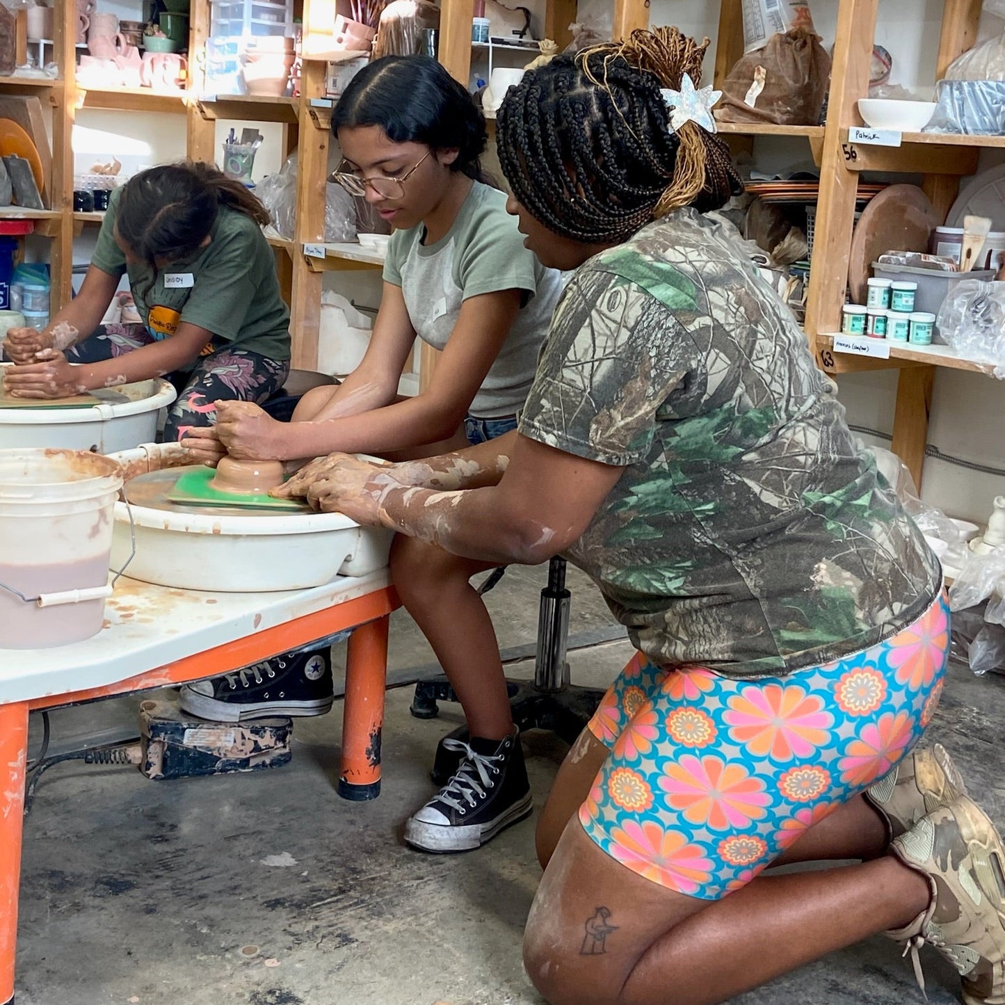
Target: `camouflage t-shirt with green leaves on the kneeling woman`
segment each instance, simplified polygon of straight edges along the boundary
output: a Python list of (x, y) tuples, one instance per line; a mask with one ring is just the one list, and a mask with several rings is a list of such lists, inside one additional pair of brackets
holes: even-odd
[(941, 588), (791, 313), (692, 209), (578, 269), (520, 431), (624, 467), (568, 558), (654, 662), (792, 672), (886, 638)]

